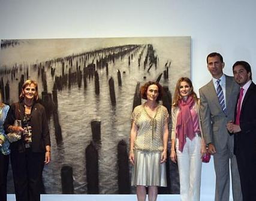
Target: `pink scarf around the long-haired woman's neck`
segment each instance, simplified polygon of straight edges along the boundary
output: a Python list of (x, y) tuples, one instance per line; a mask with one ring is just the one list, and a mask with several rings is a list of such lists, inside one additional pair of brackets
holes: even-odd
[(176, 133), (177, 138), (179, 139), (179, 151), (183, 151), (183, 148), (186, 144), (186, 136), (189, 139), (193, 139), (195, 137), (194, 127), (191, 117), (190, 109), (194, 105), (194, 99), (192, 96), (189, 96), (186, 101), (180, 99), (178, 102), (178, 106), (180, 109), (179, 114), (177, 115), (177, 123), (176, 123)]

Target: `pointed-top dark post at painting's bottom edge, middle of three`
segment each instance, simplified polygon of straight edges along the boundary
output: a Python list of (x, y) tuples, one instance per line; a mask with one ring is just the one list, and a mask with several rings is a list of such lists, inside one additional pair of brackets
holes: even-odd
[(99, 194), (98, 151), (91, 142), (85, 149), (87, 193)]

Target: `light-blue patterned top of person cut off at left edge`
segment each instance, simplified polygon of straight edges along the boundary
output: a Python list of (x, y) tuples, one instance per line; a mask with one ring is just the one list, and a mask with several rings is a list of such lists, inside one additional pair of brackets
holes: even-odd
[[(4, 120), (7, 116), (8, 110), (10, 106), (9, 105), (4, 105), (2, 108), (0, 108), (0, 139), (4, 141), (4, 144), (0, 147), (0, 151), (4, 155), (10, 154), (9, 146), (10, 142), (6, 138), (5, 132), (4, 132)], [(2, 110), (2, 111), (1, 111)]]

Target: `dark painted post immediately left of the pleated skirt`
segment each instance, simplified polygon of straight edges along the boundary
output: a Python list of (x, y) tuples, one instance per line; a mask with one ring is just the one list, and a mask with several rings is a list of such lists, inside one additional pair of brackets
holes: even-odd
[(118, 143), (118, 193), (131, 193), (131, 184), (129, 182), (129, 160), (127, 154), (127, 144), (124, 140), (121, 140)]

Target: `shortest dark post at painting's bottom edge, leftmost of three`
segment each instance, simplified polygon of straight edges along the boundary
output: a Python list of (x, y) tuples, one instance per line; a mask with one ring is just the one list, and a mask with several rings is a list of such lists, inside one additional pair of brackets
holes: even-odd
[(69, 165), (61, 168), (61, 186), (62, 194), (74, 194), (73, 168)]

